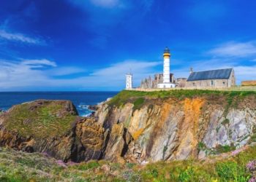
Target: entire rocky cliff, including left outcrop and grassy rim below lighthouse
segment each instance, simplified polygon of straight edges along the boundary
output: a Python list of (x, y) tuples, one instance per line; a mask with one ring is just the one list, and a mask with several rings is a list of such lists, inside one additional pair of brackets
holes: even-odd
[(256, 141), (255, 92), (124, 90), (94, 118), (67, 100), (35, 100), (0, 114), (0, 146), (64, 162), (203, 158)]

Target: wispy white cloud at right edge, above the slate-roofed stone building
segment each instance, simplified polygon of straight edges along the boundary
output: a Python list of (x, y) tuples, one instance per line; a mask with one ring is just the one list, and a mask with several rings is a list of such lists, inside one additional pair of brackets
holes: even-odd
[(254, 41), (245, 43), (230, 41), (207, 52), (210, 55), (221, 57), (249, 57), (256, 55), (256, 44)]

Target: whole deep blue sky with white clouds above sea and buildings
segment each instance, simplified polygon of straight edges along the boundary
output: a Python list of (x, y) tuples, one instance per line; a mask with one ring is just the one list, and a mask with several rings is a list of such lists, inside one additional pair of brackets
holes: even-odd
[(122, 90), (162, 73), (256, 79), (256, 1), (0, 0), (1, 91)]

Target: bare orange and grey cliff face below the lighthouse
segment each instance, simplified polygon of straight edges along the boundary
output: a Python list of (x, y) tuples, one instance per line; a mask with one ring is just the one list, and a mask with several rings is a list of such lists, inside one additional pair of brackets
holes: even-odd
[[(120, 107), (105, 103), (96, 116), (110, 130), (121, 124), (127, 128), (132, 142), (124, 158), (170, 161), (203, 158), (244, 146), (255, 136), (255, 106), (255, 95), (233, 100), (224, 95), (146, 98), (136, 110), (129, 102)], [(111, 152), (119, 154), (119, 147), (113, 145)]]

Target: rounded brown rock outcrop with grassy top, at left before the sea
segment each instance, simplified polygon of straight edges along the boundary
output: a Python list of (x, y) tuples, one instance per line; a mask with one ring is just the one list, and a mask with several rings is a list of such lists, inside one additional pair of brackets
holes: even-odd
[(35, 100), (0, 116), (0, 146), (81, 162), (100, 159), (104, 143), (102, 124), (78, 116), (67, 100)]

